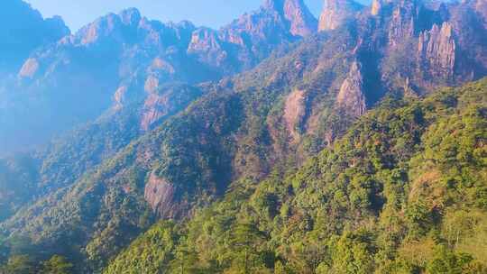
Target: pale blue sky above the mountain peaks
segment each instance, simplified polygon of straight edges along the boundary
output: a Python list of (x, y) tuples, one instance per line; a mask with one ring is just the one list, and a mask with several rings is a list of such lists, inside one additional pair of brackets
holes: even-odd
[[(258, 8), (263, 0), (25, 0), (44, 17), (60, 15), (71, 31), (97, 17), (136, 7), (142, 15), (162, 22), (189, 20), (197, 25), (218, 28), (239, 14)], [(319, 14), (323, 0), (305, 0)]]

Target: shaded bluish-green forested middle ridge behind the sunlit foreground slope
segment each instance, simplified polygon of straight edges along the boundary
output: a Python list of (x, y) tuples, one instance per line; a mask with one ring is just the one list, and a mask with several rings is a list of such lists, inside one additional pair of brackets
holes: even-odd
[[(309, 151), (314, 153), (325, 145), (318, 141), (328, 130), (326, 117), (335, 114), (332, 87), (335, 81), (343, 80), (353, 59), (345, 53), (354, 49), (351, 35), (348, 30), (317, 35), (296, 45), (289, 56), (276, 54), (253, 71), (218, 84), (202, 84), (199, 91), (184, 85), (161, 86), (159, 95), (175, 96), (176, 102), (168, 102), (182, 108), (190, 95), (203, 92), (204, 96), (185, 111), (161, 119), (157, 128), (136, 140), (139, 123), (132, 122), (140, 109), (116, 114), (120, 121), (108, 115), (108, 119), (88, 124), (72, 134), (73, 140), (54, 144), (52, 153), (45, 156), (41, 178), (46, 180), (40, 188), (48, 193), (41, 193), (40, 199), (0, 224), (0, 229), (29, 235), (33, 242), (62, 246), (62, 251), (54, 249), (49, 255), (82, 258), (76, 261), (80, 269), (97, 271), (147, 230), (156, 215), (184, 217), (224, 196), (234, 178), (257, 183), (273, 166), (282, 170), (296, 167)], [(328, 42), (330, 47), (324, 47)], [(316, 73), (315, 59), (326, 60), (329, 71), (323, 68), (323, 73)], [(283, 131), (282, 102), (294, 88), (301, 87), (309, 93), (308, 103), (317, 105), (317, 131), (306, 136), (304, 122), (294, 128), (303, 140), (308, 137), (314, 143), (312, 148), (305, 148), (300, 141), (291, 144), (289, 132)], [(330, 92), (324, 92), (328, 89)], [(175, 114), (173, 110), (170, 114)], [(333, 130), (335, 135), (343, 133), (350, 121), (343, 124)], [(129, 140), (133, 142), (119, 151)], [(100, 161), (103, 164), (96, 166)], [(173, 188), (170, 205), (147, 203), (144, 187), (150, 178)], [(360, 203), (363, 193), (358, 197)], [(276, 197), (262, 198), (255, 199), (268, 204), (262, 215), (276, 215)]]

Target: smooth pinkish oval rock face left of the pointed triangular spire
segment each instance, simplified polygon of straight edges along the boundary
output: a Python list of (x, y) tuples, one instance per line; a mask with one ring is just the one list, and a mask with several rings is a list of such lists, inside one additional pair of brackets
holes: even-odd
[(303, 90), (293, 91), (284, 106), (284, 123), (294, 142), (299, 142), (299, 126), (306, 115), (306, 94)]

